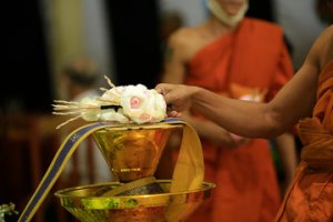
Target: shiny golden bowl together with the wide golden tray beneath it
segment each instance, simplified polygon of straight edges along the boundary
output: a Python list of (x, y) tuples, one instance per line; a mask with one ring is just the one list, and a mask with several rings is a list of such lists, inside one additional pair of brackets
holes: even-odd
[(211, 194), (213, 183), (171, 192), (171, 180), (155, 180), (169, 135), (181, 123), (105, 127), (93, 132), (110, 171), (119, 182), (56, 192), (61, 205), (82, 222), (184, 221)]

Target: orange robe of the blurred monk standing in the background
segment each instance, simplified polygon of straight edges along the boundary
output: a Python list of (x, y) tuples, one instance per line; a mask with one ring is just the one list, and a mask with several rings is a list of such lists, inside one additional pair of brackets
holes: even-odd
[[(282, 30), (254, 19), (199, 51), (189, 65), (186, 84), (232, 97), (231, 85), (268, 90), (265, 100), (293, 75)], [(271, 222), (281, 204), (276, 173), (266, 140), (230, 149), (201, 140), (205, 180), (216, 183), (209, 203), (189, 221)]]

